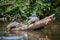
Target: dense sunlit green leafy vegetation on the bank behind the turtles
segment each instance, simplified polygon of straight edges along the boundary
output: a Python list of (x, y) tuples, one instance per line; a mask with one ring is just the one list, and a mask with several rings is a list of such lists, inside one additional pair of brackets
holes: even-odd
[(40, 18), (57, 13), (55, 8), (60, 5), (59, 0), (0, 0), (0, 4), (5, 3), (13, 3), (14, 5), (0, 7), (0, 15), (22, 20), (28, 20), (32, 13), (36, 13)]

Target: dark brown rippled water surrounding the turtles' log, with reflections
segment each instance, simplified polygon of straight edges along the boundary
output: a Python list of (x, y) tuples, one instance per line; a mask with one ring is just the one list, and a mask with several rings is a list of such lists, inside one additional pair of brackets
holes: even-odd
[(60, 40), (60, 21), (33, 31), (6, 31), (9, 22), (0, 22), (0, 40)]

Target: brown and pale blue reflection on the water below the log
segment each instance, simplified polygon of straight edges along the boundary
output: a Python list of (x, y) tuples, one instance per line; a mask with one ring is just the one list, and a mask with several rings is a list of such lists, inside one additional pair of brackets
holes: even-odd
[(0, 40), (46, 40), (43, 32), (37, 31), (7, 31), (8, 36), (2, 36)]

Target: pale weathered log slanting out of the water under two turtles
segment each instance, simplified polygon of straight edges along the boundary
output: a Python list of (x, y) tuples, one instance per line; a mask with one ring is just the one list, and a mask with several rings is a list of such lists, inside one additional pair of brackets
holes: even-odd
[(14, 28), (12, 30), (31, 30), (31, 29), (37, 29), (37, 28), (40, 28), (42, 26), (45, 26), (47, 25), (49, 22), (55, 20), (55, 17), (54, 17), (55, 14), (52, 14), (51, 16), (48, 16), (42, 20), (39, 20), (38, 22), (36, 23), (33, 23), (31, 25), (23, 25), (21, 27), (17, 27), (17, 28)]

